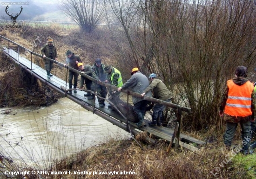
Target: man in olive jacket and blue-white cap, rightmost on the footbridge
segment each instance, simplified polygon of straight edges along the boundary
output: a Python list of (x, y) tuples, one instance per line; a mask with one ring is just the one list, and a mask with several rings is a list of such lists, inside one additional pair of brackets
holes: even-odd
[[(156, 77), (155, 73), (150, 74), (148, 77), (150, 79), (150, 84), (148, 87), (144, 90), (144, 92), (141, 94), (141, 96), (144, 96), (149, 91), (153, 91), (154, 98), (160, 99), (165, 102), (170, 102), (173, 98), (173, 93), (168, 90), (166, 85)], [(152, 122), (149, 123), (150, 126), (159, 126), (162, 127), (162, 112), (166, 108), (163, 104), (156, 103), (153, 108), (153, 114), (152, 114)], [(159, 121), (157, 121), (159, 119)]]

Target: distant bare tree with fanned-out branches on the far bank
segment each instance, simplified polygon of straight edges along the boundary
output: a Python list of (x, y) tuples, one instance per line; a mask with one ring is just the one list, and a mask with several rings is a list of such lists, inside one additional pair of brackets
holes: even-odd
[(61, 11), (86, 32), (93, 32), (104, 11), (101, 0), (61, 0)]

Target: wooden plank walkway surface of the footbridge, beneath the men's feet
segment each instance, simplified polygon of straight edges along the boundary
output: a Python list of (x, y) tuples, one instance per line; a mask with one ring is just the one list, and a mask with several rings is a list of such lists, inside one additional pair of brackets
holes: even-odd
[[(6, 55), (9, 54), (10, 57), (13, 58), (13, 60), (15, 61), (15, 63), (17, 64), (22, 64), (22, 66), (25, 66), (27, 69), (32, 70), (32, 73), (40, 76), (41, 78), (43, 78), (47, 83), (50, 83), (51, 85), (54, 85), (56, 88), (61, 89), (61, 86), (66, 86), (66, 82), (64, 80), (62, 80), (59, 77), (53, 76), (50, 79), (47, 78), (47, 74), (46, 74), (46, 70), (42, 69), (40, 66), (32, 63), (31, 66), (31, 61), (28, 60), (27, 58), (21, 57), (20, 55), (18, 55), (17, 52), (13, 51), (12, 49), (7, 49), (7, 48), (3, 48), (3, 51), (5, 52)], [(66, 70), (66, 68), (65, 68)], [(68, 87), (68, 83), (67, 83), (67, 87)], [(94, 100), (88, 100), (88, 97), (84, 97), (85, 92), (84, 91), (80, 91), (78, 90), (77, 93), (72, 93), (72, 94), (67, 94), (70, 96), (73, 96), (77, 101), (79, 102), (84, 102), (87, 105), (90, 106), (94, 106)], [(96, 98), (97, 99), (97, 98)], [(106, 101), (106, 106), (104, 108), (100, 108), (98, 101), (95, 99), (95, 108), (99, 111), (101, 111), (102, 113), (107, 114), (108, 116), (111, 116), (112, 118), (114, 118), (117, 121), (121, 121), (123, 123), (126, 123), (125, 119), (123, 119), (123, 117), (118, 114), (115, 111), (112, 111), (111, 109), (108, 109), (108, 102)], [(75, 101), (74, 101), (75, 102)], [(166, 141), (171, 141), (171, 138), (174, 134), (174, 130), (170, 129), (170, 128), (165, 128), (165, 127), (149, 127), (148, 123), (150, 121), (146, 120), (147, 123), (147, 127), (144, 128), (140, 128), (140, 129), (136, 129), (137, 126), (135, 125), (135, 123), (130, 121), (130, 125), (131, 128), (139, 130), (139, 131), (147, 131), (150, 134), (153, 134), (155, 137), (159, 138), (159, 139), (163, 139)], [(191, 144), (196, 144), (197, 147), (200, 147), (202, 145), (205, 144), (204, 141), (200, 141), (198, 139), (195, 139), (193, 137), (190, 137), (188, 135), (185, 134), (180, 134), (180, 145), (186, 148), (189, 148), (190, 150), (198, 150), (198, 148), (193, 147), (193, 145), (189, 145), (189, 143)]]

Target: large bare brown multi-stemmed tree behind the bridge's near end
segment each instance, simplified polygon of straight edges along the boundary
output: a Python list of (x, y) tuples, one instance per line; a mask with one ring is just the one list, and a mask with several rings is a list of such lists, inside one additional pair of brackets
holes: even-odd
[[(126, 67), (155, 72), (176, 102), (192, 109), (187, 126), (218, 124), (226, 80), (256, 67), (256, 6), (251, 0), (105, 0)], [(110, 14), (108, 14), (110, 16)], [(125, 70), (130, 68), (124, 68)]]

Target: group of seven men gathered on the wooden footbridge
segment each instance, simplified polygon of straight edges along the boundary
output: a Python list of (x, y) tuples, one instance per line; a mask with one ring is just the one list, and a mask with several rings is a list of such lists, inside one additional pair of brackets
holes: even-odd
[[(54, 60), (57, 60), (57, 51), (55, 46), (53, 45), (53, 39), (48, 37), (47, 38), (47, 44), (45, 44), (41, 48), (41, 54), (44, 58), (45, 62), (45, 69), (47, 72), (47, 78), (50, 78), (52, 74), (50, 73), (53, 67), (53, 62), (47, 60), (47, 58), (51, 58)], [(149, 77), (146, 77), (141, 73), (141, 71), (136, 67), (132, 69), (131, 72), (131, 78), (123, 84), (121, 72), (117, 70), (112, 65), (104, 65), (101, 63), (101, 58), (97, 58), (92, 66), (89, 64), (84, 65), (79, 58), (79, 56), (75, 55), (72, 51), (68, 50), (66, 52), (66, 63), (64, 66), (68, 64), (69, 67), (74, 68), (75, 70), (80, 70), (81, 73), (84, 73), (90, 77), (93, 77), (99, 82), (105, 82), (110, 83), (111, 85), (114, 85), (118, 87), (118, 90), (109, 90), (109, 98), (119, 99), (121, 89), (130, 89), (135, 93), (141, 94), (141, 96), (149, 96), (152, 97), (152, 93), (154, 94), (154, 97), (157, 99), (161, 99), (166, 102), (170, 102), (171, 99), (173, 99), (173, 94), (166, 85), (157, 78), (155, 73), (152, 73)], [(73, 84), (73, 78), (74, 78), (74, 84)], [(151, 84), (149, 84), (150, 80)], [(75, 73), (72, 70), (69, 70), (68, 73), (68, 84), (69, 89), (76, 89), (77, 88), (77, 82), (78, 82), (78, 74)], [(98, 98), (99, 106), (101, 108), (104, 108), (105, 106), (105, 99), (107, 96), (107, 88), (105, 86), (102, 86), (98, 83), (92, 82), (88, 78), (85, 78), (81, 76), (80, 80), (80, 87), (79, 89), (83, 89), (84, 83), (86, 84), (86, 89), (89, 91), (96, 91), (97, 96), (100, 96)], [(73, 88), (72, 88), (73, 86)], [(74, 93), (77, 91), (74, 90)], [(69, 94), (72, 94), (72, 90), (68, 91)], [(84, 94), (84, 96), (88, 96), (89, 100), (92, 100), (95, 98), (94, 94), (91, 92), (87, 92)], [(148, 101), (144, 100), (143, 98), (135, 97), (133, 96), (133, 109), (134, 112), (139, 120), (137, 126), (143, 127), (145, 126), (144, 122), (144, 115), (146, 112), (146, 107), (148, 105)], [(111, 108), (111, 105), (108, 105), (109, 108)], [(153, 107), (153, 115), (152, 115), (152, 122), (149, 123), (150, 126), (159, 126), (162, 127), (162, 112), (165, 109), (166, 106), (163, 104), (155, 104)]]

